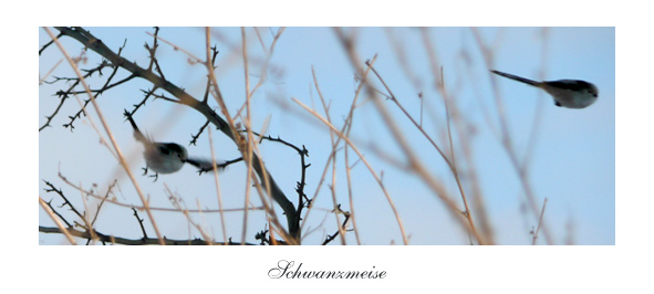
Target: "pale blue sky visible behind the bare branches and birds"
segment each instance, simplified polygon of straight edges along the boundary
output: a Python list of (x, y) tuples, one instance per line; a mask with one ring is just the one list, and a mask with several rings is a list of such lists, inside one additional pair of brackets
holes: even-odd
[[(125, 40), (123, 55), (147, 64), (145, 42), (152, 43), (146, 32), (150, 28), (91, 28), (93, 34), (116, 50)], [(259, 29), (264, 44), (270, 44), (273, 29)], [(245, 97), (245, 78), (241, 61), (241, 33), (238, 28), (217, 28), (214, 41), (220, 54), (217, 75), (220, 88), (227, 97), (228, 108), (233, 113)], [(477, 29), (484, 42), (494, 44), (494, 67), (499, 71), (521, 75), (533, 80), (579, 78), (598, 85), (598, 102), (584, 109), (556, 107), (551, 97), (527, 85), (510, 80), (491, 76), (480, 54), (473, 30), (469, 28), (432, 28), (428, 35), (438, 54), (445, 72), (445, 83), (456, 101), (460, 115), (475, 129), (473, 144), (469, 146), (480, 189), (487, 204), (489, 218), (499, 244), (530, 244), (529, 230), (537, 225), (532, 214), (523, 209), (523, 191), (512, 169), (507, 153), (494, 135), (498, 117), (495, 113), (491, 78), (496, 78), (500, 97), (506, 109), (506, 119), (513, 146), (520, 158), (530, 158), (530, 182), (538, 201), (548, 198), (546, 222), (556, 244), (564, 244), (569, 235), (575, 244), (615, 244), (615, 30), (613, 28), (480, 28)], [(434, 75), (429, 67), (421, 31), (414, 28), (360, 28), (346, 29), (345, 32), (357, 34), (356, 52), (361, 60), (372, 59), (377, 54), (375, 69), (384, 77), (393, 93), (408, 112), (419, 116), (418, 93), (425, 99), (425, 128), (445, 148), (443, 133), (445, 112), (443, 99), (434, 87)], [(261, 60), (264, 54), (253, 29), (247, 29), (248, 49), (251, 59), (250, 83), (261, 76)], [(162, 28), (159, 35), (197, 56), (204, 56), (204, 31), (199, 28)], [(48, 41), (48, 35), (39, 31), (39, 45)], [(407, 77), (393, 49), (393, 41), (404, 50), (411, 72), (416, 80)], [(69, 53), (79, 55), (81, 45), (63, 39)], [(544, 43), (543, 43), (544, 42)], [(543, 45), (544, 44), (544, 45)], [(543, 53), (544, 49), (544, 53)], [(100, 62), (93, 52), (86, 54), (85, 67)], [(204, 94), (205, 80), (200, 65), (191, 65), (187, 56), (162, 43), (157, 52), (166, 77), (186, 88), (191, 95)], [(39, 72), (46, 73), (61, 59), (54, 48), (49, 49), (39, 60)], [(354, 70), (349, 63), (343, 48), (332, 29), (329, 28), (287, 28), (278, 41), (268, 80), (253, 96), (255, 129), (261, 128), (269, 117), (268, 134), (280, 136), (298, 146), (309, 149), (307, 191), (312, 197), (331, 150), (330, 136), (325, 127), (311, 118), (291, 98), (314, 106), (321, 114), (320, 99), (313, 86), (311, 70), (315, 71), (324, 97), (331, 102), (331, 117), (336, 126), (342, 125), (349, 111), (356, 82)], [(108, 75), (106, 71), (105, 76)], [(120, 75), (125, 76), (122, 72)], [(60, 65), (53, 75), (71, 75), (69, 66)], [(417, 81), (417, 82), (415, 82)], [(91, 81), (92, 87), (101, 82)], [(380, 83), (375, 82), (380, 86)], [(39, 126), (45, 122), (58, 105), (52, 94), (62, 86), (41, 85), (39, 88)], [(139, 157), (141, 147), (134, 141), (132, 130), (122, 117), (123, 108), (131, 108), (143, 95), (139, 90), (149, 88), (142, 81), (129, 82), (103, 94), (98, 103), (107, 123), (124, 153), (129, 155), (132, 170), (138, 174), (144, 166)], [(80, 96), (86, 98), (85, 96)], [(428, 167), (430, 174), (440, 180), (456, 201), (456, 186), (443, 158), (421, 136), (419, 132), (390, 102), (386, 106), (402, 127), (404, 135)], [(58, 177), (61, 171), (68, 179), (91, 188), (94, 183), (101, 192), (118, 179), (117, 200), (138, 204), (134, 188), (124, 176), (116, 160), (106, 148), (98, 144), (98, 137), (90, 127), (87, 119), (75, 122), (75, 130), (61, 127), (68, 123), (68, 116), (77, 112), (74, 99), (69, 101), (53, 119), (53, 127), (39, 134), (39, 178), (62, 187), (73, 202), (83, 206), (79, 192), (68, 187)], [(487, 120), (485, 112), (489, 112)], [(433, 116), (428, 116), (434, 114)], [(533, 132), (534, 117), (539, 117), (539, 127)], [(98, 124), (95, 115), (92, 116)], [(137, 113), (135, 120), (142, 129), (149, 132), (157, 140), (176, 141), (185, 146), (190, 134), (204, 124), (194, 112), (174, 106), (164, 101), (150, 101), (145, 109)], [(490, 123), (489, 123), (490, 122)], [(533, 135), (536, 134), (536, 135)], [(532, 138), (536, 144), (529, 147)], [(430, 192), (415, 175), (397, 169), (380, 158), (370, 146), (374, 145), (384, 153), (404, 159), (397, 144), (392, 140), (387, 128), (381, 120), (372, 103), (362, 105), (355, 116), (352, 138), (362, 149), (377, 172), (383, 170), (384, 186), (393, 197), (411, 244), (467, 244), (467, 234), (453, 221), (443, 203)], [(455, 137), (456, 138), (456, 137)], [(231, 141), (214, 133), (215, 151), (222, 159), (238, 157)], [(456, 143), (455, 143), (456, 144)], [(188, 147), (190, 155), (210, 156), (206, 134), (198, 146)], [(290, 149), (273, 143), (261, 145), (262, 157), (276, 180), (291, 199), (294, 199), (294, 185), (299, 179), (299, 158)], [(530, 151), (528, 151), (530, 150)], [(455, 153), (459, 154), (460, 149)], [(353, 154), (351, 154), (351, 157)], [(352, 160), (352, 159), (351, 159)], [(338, 201), (349, 208), (346, 178), (342, 155), (338, 159), (336, 186)], [(221, 193), (226, 208), (239, 208), (243, 202), (245, 168), (229, 167), (220, 177)], [(353, 169), (354, 209), (359, 232), (363, 244), (402, 243), (397, 223), (391, 212), (380, 187), (363, 165)], [(137, 177), (152, 204), (170, 207), (164, 193), (166, 183), (189, 208), (216, 208), (216, 191), (211, 176), (198, 177), (191, 167), (181, 171), (159, 177), (152, 182), (146, 177)], [(328, 179), (331, 183), (331, 178)], [(45, 186), (40, 182), (40, 195), (45, 199), (54, 198), (44, 193)], [(318, 193), (315, 206), (307, 219), (304, 229), (307, 244), (319, 244), (325, 233), (333, 233), (335, 220), (328, 211), (332, 208), (330, 190), (323, 186)], [(281, 213), (279, 211), (278, 213)], [(142, 218), (145, 216), (141, 216)], [(242, 214), (227, 213), (227, 235), (240, 238)], [(71, 217), (72, 218), (72, 217)], [(189, 229), (183, 216), (170, 212), (155, 214), (159, 228), (168, 238), (187, 239), (199, 237)], [(194, 216), (204, 223), (209, 232), (221, 240), (221, 227), (217, 213)], [(323, 222), (324, 220), (324, 222)], [(52, 225), (40, 210), (41, 225)], [(252, 234), (264, 225), (261, 212), (250, 213), (247, 241), (255, 242)], [(141, 238), (141, 231), (128, 209), (106, 206), (98, 217), (97, 229), (125, 238)], [(313, 230), (315, 229), (315, 230)], [(310, 232), (311, 231), (311, 232)], [(154, 233), (148, 233), (154, 235)], [(541, 240), (542, 241), (542, 240)], [(63, 239), (56, 235), (39, 235), (40, 244), (61, 244)], [(339, 242), (334, 242), (339, 243)], [(346, 235), (347, 244), (355, 244), (353, 233)]]

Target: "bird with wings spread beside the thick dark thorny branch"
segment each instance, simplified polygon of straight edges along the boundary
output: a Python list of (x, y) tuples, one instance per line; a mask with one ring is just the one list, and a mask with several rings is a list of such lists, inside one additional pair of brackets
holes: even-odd
[(173, 174), (180, 170), (181, 167), (184, 167), (184, 164), (190, 164), (199, 168), (200, 174), (214, 169), (214, 162), (211, 160), (189, 158), (186, 148), (179, 144), (150, 140), (141, 133), (136, 123), (134, 123), (134, 119), (132, 118), (132, 114), (129, 114), (127, 109), (125, 109), (124, 115), (127, 117), (127, 120), (129, 120), (129, 124), (132, 124), (134, 138), (141, 141), (145, 147), (145, 150), (143, 151), (143, 157), (146, 162), (145, 174), (147, 174), (148, 168), (157, 174), (155, 177), (158, 177), (158, 174)]

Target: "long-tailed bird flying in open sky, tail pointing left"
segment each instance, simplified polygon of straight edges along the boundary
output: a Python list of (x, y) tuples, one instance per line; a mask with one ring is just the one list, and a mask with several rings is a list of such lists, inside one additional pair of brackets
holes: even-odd
[(525, 84), (544, 90), (554, 98), (554, 105), (567, 108), (585, 108), (598, 101), (598, 87), (580, 80), (558, 80), (537, 82), (521, 76), (490, 71), (494, 74), (508, 77)]

